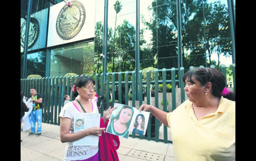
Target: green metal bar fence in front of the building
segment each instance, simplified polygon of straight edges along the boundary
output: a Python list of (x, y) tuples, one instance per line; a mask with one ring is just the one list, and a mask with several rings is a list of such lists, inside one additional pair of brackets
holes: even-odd
[[(200, 66), (203, 67), (203, 66)], [(211, 65), (210, 67), (215, 68), (214, 65)], [(192, 66), (190, 69), (193, 68)], [(180, 76), (178, 75), (178, 79), (176, 80), (176, 73), (178, 70), (180, 70)], [(219, 69), (226, 77), (226, 66), (221, 64)], [(166, 80), (166, 73), (171, 72), (171, 80)], [(233, 91), (235, 93), (235, 64), (232, 64), (232, 72), (233, 72)], [(161, 75), (162, 80), (159, 80), (159, 75)], [(176, 105), (176, 84), (180, 84), (181, 88), (181, 102), (183, 103), (185, 101), (185, 91), (183, 88), (185, 87), (184, 82), (182, 81), (182, 77), (184, 75), (184, 67), (178, 68), (172, 68), (172, 69), (155, 69), (155, 77), (153, 81), (150, 81), (150, 71), (147, 70), (146, 75), (146, 81), (142, 80), (142, 70), (139, 71), (139, 88), (138, 91), (135, 91), (133, 89), (136, 89), (136, 75), (135, 71), (127, 71), (127, 72), (114, 72), (114, 73), (106, 73), (106, 82), (103, 81), (103, 73), (100, 74), (91, 74), (90, 77), (93, 77), (95, 80), (95, 86), (96, 90), (95, 92), (97, 95), (105, 95), (105, 99), (102, 101), (102, 107), (100, 109), (101, 116), (103, 116), (104, 108), (109, 107), (109, 97), (112, 96), (112, 100), (118, 99), (118, 103), (122, 103), (125, 105), (128, 105), (128, 93), (131, 92), (132, 94), (132, 101), (131, 105), (132, 107), (135, 107), (136, 102), (139, 103), (139, 106), (143, 104), (143, 95), (147, 96), (146, 100), (144, 100), (144, 103), (150, 104), (151, 97), (150, 96), (150, 87), (154, 86), (155, 88), (155, 107), (159, 108), (159, 84), (163, 84), (163, 87), (166, 87), (166, 83), (172, 84), (172, 109), (171, 111), (175, 110)], [(80, 75), (83, 76), (83, 75)], [(88, 76), (86, 74), (85, 76)], [(78, 78), (79, 75), (76, 76)], [(36, 88), (37, 92), (42, 94), (43, 96), (43, 102), (42, 102), (42, 108), (43, 108), (43, 122), (44, 123), (51, 123), (55, 125), (60, 125), (60, 118), (59, 114), (61, 112), (61, 108), (63, 107), (63, 96), (65, 94), (70, 95), (71, 101), (74, 100), (72, 97), (71, 88), (74, 84), (74, 81), (76, 79), (74, 76), (70, 78), (70, 76), (67, 77), (44, 77), (44, 78), (37, 78), (37, 79), (21, 79), (21, 91), (25, 94), (26, 97), (30, 95), (30, 89)], [(111, 78), (111, 79), (110, 79)], [(100, 88), (99, 88), (100, 86)], [(111, 91), (110, 87), (111, 86)], [(146, 88), (146, 90), (144, 89)], [(227, 86), (226, 86), (227, 87)], [(103, 89), (103, 90), (102, 90)], [(111, 92), (111, 95), (110, 95)], [(136, 101), (134, 98), (136, 98), (138, 92), (138, 101)], [(105, 104), (104, 104), (105, 101)], [(114, 102), (114, 101), (113, 101)], [(112, 103), (113, 103), (112, 102)], [(167, 91), (166, 88), (163, 88), (163, 111), (167, 112)], [(151, 121), (152, 118), (155, 120), (155, 127), (152, 126)], [(147, 126), (147, 136), (143, 135), (135, 135), (135, 133), (132, 133), (132, 137), (139, 137), (140, 139), (148, 139), (148, 140), (155, 140), (156, 142), (163, 141), (164, 143), (172, 142), (168, 140), (168, 134), (167, 134), (167, 126), (163, 125), (164, 127), (164, 137), (163, 139), (159, 139), (159, 120), (155, 117), (151, 117), (148, 122)], [(151, 137), (151, 127), (155, 128), (155, 137)]]

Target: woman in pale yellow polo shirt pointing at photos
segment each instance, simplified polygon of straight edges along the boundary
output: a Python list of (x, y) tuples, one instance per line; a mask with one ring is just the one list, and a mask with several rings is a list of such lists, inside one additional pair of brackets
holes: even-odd
[(171, 128), (176, 161), (235, 160), (235, 95), (225, 88), (224, 75), (196, 67), (183, 81), (189, 99), (173, 112), (145, 104), (139, 110)]

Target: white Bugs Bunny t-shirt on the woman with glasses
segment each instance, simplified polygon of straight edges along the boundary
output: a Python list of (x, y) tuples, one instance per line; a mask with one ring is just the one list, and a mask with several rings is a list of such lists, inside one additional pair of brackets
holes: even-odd
[[(95, 102), (92, 102), (92, 113), (98, 114), (98, 108)], [(72, 102), (68, 102), (62, 108), (59, 117), (72, 119), (69, 133), (74, 133), (74, 114), (80, 113)], [(64, 161), (83, 160), (92, 157), (98, 152), (98, 146), (73, 146), (73, 142), (67, 142), (64, 153)]]

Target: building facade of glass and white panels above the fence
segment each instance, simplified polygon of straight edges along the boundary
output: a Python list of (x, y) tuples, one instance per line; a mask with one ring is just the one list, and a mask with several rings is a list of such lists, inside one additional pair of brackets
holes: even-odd
[(21, 0), (21, 79), (235, 63), (235, 0), (69, 2)]

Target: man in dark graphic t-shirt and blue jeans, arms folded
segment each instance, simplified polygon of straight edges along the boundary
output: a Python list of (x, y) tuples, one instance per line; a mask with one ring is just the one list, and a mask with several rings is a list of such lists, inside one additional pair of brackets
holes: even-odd
[(33, 135), (36, 131), (36, 121), (37, 121), (37, 136), (40, 136), (42, 133), (42, 95), (37, 93), (36, 88), (30, 89), (31, 95), (29, 98), (32, 98), (30, 102), (33, 102), (33, 109), (30, 114), (29, 120), (31, 122), (31, 132), (29, 136)]

